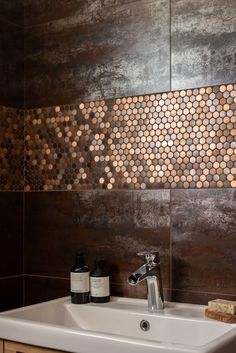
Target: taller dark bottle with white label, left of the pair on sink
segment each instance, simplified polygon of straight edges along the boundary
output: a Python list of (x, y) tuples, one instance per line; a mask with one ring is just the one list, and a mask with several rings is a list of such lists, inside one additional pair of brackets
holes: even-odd
[(89, 302), (89, 268), (85, 266), (83, 253), (76, 255), (75, 263), (70, 272), (71, 302), (86, 304)]

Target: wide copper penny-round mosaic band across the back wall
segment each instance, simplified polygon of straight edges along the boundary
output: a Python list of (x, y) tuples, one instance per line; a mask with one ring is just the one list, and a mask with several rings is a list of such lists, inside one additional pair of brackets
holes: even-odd
[(25, 190), (236, 187), (236, 84), (25, 111)]

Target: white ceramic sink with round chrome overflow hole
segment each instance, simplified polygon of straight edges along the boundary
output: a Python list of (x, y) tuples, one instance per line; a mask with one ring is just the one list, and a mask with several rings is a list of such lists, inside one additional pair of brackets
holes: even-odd
[(151, 314), (145, 300), (75, 305), (61, 298), (2, 313), (0, 338), (76, 353), (235, 353), (236, 325), (207, 319), (204, 309), (166, 303)]

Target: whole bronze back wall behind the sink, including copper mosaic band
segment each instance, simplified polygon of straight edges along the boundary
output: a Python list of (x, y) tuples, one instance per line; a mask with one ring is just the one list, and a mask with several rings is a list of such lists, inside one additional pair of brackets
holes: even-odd
[[(235, 11), (25, 2), (26, 304), (69, 293), (81, 248), (90, 267), (108, 259), (112, 294), (145, 296), (126, 279), (155, 247), (166, 299), (236, 299)], [(20, 130), (3, 124), (15, 153)]]

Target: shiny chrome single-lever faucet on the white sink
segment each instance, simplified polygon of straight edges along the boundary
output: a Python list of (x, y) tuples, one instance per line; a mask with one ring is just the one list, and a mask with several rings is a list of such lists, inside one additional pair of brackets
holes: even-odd
[(143, 280), (147, 280), (148, 311), (155, 313), (164, 309), (159, 253), (143, 251), (137, 255), (144, 256), (146, 262), (129, 276), (128, 283), (136, 286)]

